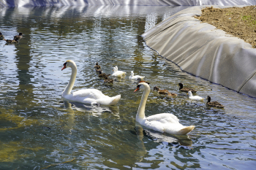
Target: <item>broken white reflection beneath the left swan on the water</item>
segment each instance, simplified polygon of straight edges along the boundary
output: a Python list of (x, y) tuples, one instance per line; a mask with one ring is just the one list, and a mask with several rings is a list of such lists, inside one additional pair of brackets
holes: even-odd
[(81, 104), (75, 101), (69, 101), (69, 103), (72, 104), (78, 111), (91, 112), (91, 114), (94, 116), (102, 115), (103, 112), (110, 112), (113, 115), (119, 117), (118, 107), (95, 106), (89, 104)]

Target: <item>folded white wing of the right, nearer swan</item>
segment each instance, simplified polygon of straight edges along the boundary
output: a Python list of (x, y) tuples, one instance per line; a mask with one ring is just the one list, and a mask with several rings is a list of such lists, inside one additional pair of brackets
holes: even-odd
[(176, 115), (173, 115), (171, 113), (159, 113), (157, 115), (151, 115), (146, 117), (148, 121), (167, 121), (169, 123), (178, 123), (178, 117)]

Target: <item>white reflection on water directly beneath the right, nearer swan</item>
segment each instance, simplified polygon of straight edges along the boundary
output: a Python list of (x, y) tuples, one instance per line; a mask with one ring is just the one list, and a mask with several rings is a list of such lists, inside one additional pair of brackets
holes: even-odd
[[(140, 127), (140, 128), (138, 128)], [(140, 130), (141, 132), (138, 133), (137, 131)], [(154, 139), (155, 142), (168, 142), (170, 144), (181, 144), (182, 146), (191, 147), (192, 146), (192, 140), (189, 139), (189, 136), (185, 135), (179, 135), (179, 136), (173, 136), (170, 134), (162, 134), (158, 131), (154, 131), (148, 128), (142, 128), (139, 123), (136, 123), (136, 132), (137, 134), (143, 134), (143, 131), (145, 131), (146, 135)]]

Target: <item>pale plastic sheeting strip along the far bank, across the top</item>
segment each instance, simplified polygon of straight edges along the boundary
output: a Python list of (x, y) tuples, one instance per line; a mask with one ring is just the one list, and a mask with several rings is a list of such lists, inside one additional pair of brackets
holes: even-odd
[(1, 0), (0, 7), (59, 5), (255, 5), (255, 0)]

